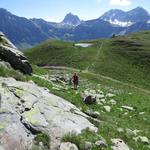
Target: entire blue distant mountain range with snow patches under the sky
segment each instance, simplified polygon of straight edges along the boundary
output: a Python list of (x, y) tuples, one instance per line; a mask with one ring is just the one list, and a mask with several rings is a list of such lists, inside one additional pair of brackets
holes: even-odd
[(80, 41), (150, 30), (150, 14), (142, 7), (128, 12), (112, 9), (98, 19), (89, 21), (82, 21), (69, 13), (60, 23), (18, 17), (1, 8), (0, 18), (0, 31), (21, 49), (47, 39)]

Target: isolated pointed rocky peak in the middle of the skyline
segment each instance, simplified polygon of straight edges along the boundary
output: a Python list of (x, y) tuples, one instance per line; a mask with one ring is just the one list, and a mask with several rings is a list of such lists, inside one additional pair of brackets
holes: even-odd
[(77, 26), (81, 23), (81, 20), (77, 15), (74, 15), (70, 12), (65, 16), (64, 20), (61, 23), (66, 25)]

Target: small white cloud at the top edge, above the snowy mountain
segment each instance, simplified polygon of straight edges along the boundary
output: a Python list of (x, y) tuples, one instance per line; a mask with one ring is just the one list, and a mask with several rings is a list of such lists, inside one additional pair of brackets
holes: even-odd
[(132, 4), (131, 0), (110, 0), (111, 5), (129, 6)]

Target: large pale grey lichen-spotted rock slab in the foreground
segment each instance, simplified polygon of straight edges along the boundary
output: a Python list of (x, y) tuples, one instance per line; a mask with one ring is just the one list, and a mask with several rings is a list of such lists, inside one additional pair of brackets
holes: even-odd
[(1, 149), (30, 150), (36, 134), (46, 132), (55, 150), (67, 133), (79, 134), (86, 128), (97, 132), (87, 115), (34, 83), (0, 78), (0, 95)]

